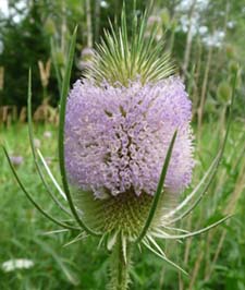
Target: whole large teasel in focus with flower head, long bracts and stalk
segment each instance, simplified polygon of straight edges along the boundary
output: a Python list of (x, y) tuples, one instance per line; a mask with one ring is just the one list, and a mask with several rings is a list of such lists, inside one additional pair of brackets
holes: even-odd
[[(121, 27), (110, 24), (110, 32), (105, 31), (86, 78), (78, 80), (70, 90), (76, 28), (73, 33), (60, 100), (58, 149), (62, 185), (34, 146), (29, 71), (28, 134), (34, 162), (47, 193), (70, 217), (69, 221), (58, 220), (34, 200), (3, 146), (13, 176), (30, 203), (59, 228), (77, 231), (70, 243), (93, 235), (99, 246), (108, 250), (111, 290), (128, 289), (136, 249), (147, 247), (187, 275), (167, 256), (159, 241), (181, 242), (231, 217), (194, 232), (174, 226), (196, 208), (217, 173), (232, 120), (236, 73), (220, 149), (199, 183), (177, 202), (191, 183), (195, 164), (192, 104), (182, 80), (175, 76), (170, 56), (163, 51), (163, 43), (155, 43), (156, 26), (145, 37), (147, 12), (140, 19), (135, 16), (133, 23), (130, 34), (124, 9)], [(47, 176), (64, 203), (57, 198)]]

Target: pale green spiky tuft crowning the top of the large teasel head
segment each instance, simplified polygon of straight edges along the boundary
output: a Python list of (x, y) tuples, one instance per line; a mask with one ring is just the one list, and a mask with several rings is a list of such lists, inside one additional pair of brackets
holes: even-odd
[(158, 82), (174, 73), (170, 55), (164, 52), (163, 39), (156, 40), (158, 26), (147, 26), (148, 13), (140, 17), (135, 13), (128, 29), (125, 9), (122, 11), (121, 26), (110, 23), (110, 32), (105, 29), (101, 43), (87, 68), (85, 76), (100, 85), (105, 80), (111, 85), (125, 86), (131, 81)]

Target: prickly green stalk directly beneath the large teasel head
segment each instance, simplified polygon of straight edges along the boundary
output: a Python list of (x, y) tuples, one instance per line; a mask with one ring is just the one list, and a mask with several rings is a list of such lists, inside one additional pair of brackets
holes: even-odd
[[(128, 246), (128, 244), (127, 244)], [(111, 280), (108, 290), (126, 290), (130, 282), (130, 250), (124, 247), (121, 237), (118, 238), (110, 256)]]

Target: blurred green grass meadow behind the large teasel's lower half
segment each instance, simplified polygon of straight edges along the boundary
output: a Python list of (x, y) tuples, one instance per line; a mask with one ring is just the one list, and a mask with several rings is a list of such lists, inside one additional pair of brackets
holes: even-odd
[[(45, 131), (52, 132), (52, 137), (45, 138)], [(8, 150), (12, 155), (24, 157), (24, 164), (17, 167), (17, 172), (33, 196), (54, 217), (64, 219), (65, 216), (50, 201), (37, 177), (28, 144), (27, 126), (17, 124), (9, 129), (1, 128), (0, 132), (0, 140), (4, 142)], [(38, 125), (35, 126), (35, 134), (40, 140), (42, 154), (52, 159), (50, 166), (59, 179), (57, 128)], [(193, 185), (215, 158), (221, 138), (222, 126), (219, 121), (201, 128), (200, 140), (195, 141), (196, 167)], [(145, 249), (139, 253), (135, 247), (131, 289), (245, 289), (244, 144), (245, 125), (241, 121), (234, 121), (215, 181), (198, 208), (176, 226), (194, 230), (225, 214), (234, 213), (231, 220), (209, 233), (185, 240), (183, 243), (162, 242), (168, 255), (184, 267), (189, 277), (182, 277)], [(87, 238), (64, 246), (75, 238), (75, 232), (45, 234), (59, 227), (44, 218), (25, 198), (2, 152), (0, 165), (0, 265), (11, 258), (29, 258), (35, 263), (33, 268), (11, 273), (4, 273), (0, 268), (0, 289), (106, 289), (109, 255), (106, 250), (98, 250), (98, 240)], [(180, 198), (183, 196), (184, 194)], [(220, 254), (212, 263), (223, 233)]]

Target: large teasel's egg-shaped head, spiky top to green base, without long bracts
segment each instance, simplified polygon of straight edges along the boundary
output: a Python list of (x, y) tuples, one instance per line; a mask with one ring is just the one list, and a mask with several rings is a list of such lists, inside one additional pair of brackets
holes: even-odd
[[(135, 29), (146, 33), (146, 23), (137, 27), (136, 20)], [(64, 156), (73, 197), (85, 223), (108, 241), (142, 239), (145, 225), (147, 234), (161, 229), (192, 179), (192, 104), (162, 44), (155, 44), (156, 32), (145, 33), (130, 44), (122, 14), (122, 27), (106, 33), (66, 102)], [(162, 195), (159, 179), (176, 131)]]

